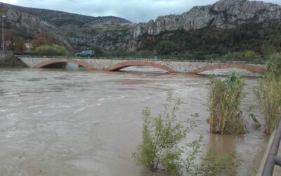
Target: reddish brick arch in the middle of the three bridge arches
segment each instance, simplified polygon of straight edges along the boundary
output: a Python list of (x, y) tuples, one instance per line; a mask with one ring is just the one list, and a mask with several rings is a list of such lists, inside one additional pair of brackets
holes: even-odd
[(108, 68), (105, 68), (105, 70), (107, 71), (115, 71), (115, 70), (120, 70), (122, 68), (126, 68), (126, 67), (130, 67), (130, 66), (138, 66), (138, 65), (141, 65), (141, 66), (150, 66), (150, 67), (153, 67), (153, 68), (159, 68), (159, 69), (162, 69), (168, 73), (176, 73), (177, 71), (172, 69), (172, 68), (169, 68), (165, 65), (161, 65), (159, 63), (155, 63), (153, 61), (125, 61), (125, 62), (122, 62), (122, 63), (117, 63), (115, 65), (112, 65)]

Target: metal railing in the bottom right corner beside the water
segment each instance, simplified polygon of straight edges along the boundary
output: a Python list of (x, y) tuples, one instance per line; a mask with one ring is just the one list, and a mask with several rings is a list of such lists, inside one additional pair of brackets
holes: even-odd
[(281, 158), (277, 157), (280, 141), (281, 141), (281, 120), (275, 132), (273, 142), (271, 143), (268, 156), (266, 158), (266, 163), (264, 164), (263, 172), (261, 174), (262, 176), (273, 175), (273, 170), (275, 165), (279, 165), (281, 167)]

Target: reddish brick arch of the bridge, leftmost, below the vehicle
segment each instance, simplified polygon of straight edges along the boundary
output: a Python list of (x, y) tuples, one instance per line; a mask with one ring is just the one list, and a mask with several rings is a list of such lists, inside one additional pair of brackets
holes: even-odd
[(39, 63), (38, 65), (35, 65), (34, 68), (43, 68), (44, 66), (51, 65), (53, 63), (77, 63), (78, 65), (81, 65), (84, 68), (88, 68), (89, 70), (96, 70), (96, 68), (94, 68), (91, 64), (74, 58), (53, 58), (48, 61)]

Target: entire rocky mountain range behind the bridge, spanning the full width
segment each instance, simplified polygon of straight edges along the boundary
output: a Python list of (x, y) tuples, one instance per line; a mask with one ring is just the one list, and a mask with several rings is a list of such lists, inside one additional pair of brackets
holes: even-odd
[(0, 3), (0, 14), (6, 15), (6, 39), (32, 40), (36, 34), (47, 33), (56, 44), (71, 50), (98, 45), (152, 51), (166, 40), (176, 45), (177, 52), (281, 51), (281, 6), (263, 1), (219, 0), (137, 25), (114, 16), (91, 17), (4, 3)]

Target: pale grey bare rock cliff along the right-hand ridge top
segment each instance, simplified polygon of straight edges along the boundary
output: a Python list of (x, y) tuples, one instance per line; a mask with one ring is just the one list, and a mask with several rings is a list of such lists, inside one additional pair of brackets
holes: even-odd
[(263, 22), (281, 19), (281, 6), (263, 1), (220, 0), (213, 5), (195, 6), (181, 15), (165, 15), (155, 21), (139, 23), (134, 32), (136, 39), (141, 34), (160, 34), (172, 30), (196, 30), (209, 25), (231, 28), (249, 20)]

